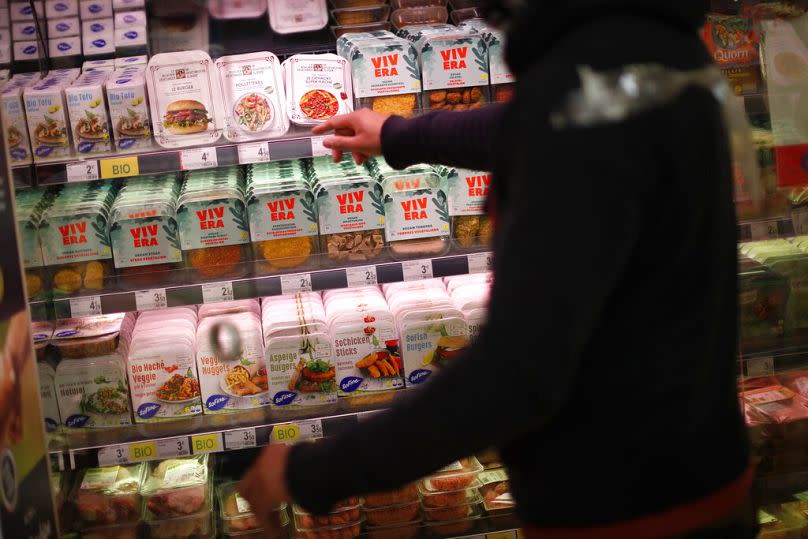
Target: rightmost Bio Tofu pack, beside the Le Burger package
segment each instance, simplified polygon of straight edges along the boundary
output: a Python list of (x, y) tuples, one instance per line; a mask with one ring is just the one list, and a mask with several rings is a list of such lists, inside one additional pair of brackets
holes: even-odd
[(151, 117), (142, 74), (113, 72), (106, 82), (110, 125), (121, 150), (151, 145)]

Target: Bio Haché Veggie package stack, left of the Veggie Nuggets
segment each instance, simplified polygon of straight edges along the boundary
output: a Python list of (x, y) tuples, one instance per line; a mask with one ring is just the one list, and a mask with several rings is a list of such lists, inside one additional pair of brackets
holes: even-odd
[(192, 309), (141, 313), (127, 358), (136, 422), (202, 413)]

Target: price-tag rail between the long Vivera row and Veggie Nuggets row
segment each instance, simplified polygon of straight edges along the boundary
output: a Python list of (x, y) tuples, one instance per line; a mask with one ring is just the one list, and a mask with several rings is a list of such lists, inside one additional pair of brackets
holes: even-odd
[(481, 251), (468, 254), (384, 262), (366, 266), (312, 270), (304, 273), (268, 275), (232, 281), (193, 282), (164, 288), (103, 292), (30, 303), (33, 320), (66, 319), (183, 305), (201, 305), (239, 299), (277, 296), (304, 291), (331, 290), (401, 281), (418, 281), (491, 270), (492, 255)]

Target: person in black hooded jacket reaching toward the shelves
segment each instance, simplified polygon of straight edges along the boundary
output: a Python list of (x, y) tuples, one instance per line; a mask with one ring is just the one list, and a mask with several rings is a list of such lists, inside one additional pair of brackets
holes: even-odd
[(494, 446), (530, 538), (755, 536), (720, 104), (693, 87), (621, 121), (550, 122), (578, 66), (708, 65), (705, 4), (503, 1), (511, 103), (410, 120), (358, 111), (316, 130), (336, 131), (335, 156), (493, 172), (489, 321), (385, 413), (265, 449), (242, 483), (253, 507), (323, 513)]

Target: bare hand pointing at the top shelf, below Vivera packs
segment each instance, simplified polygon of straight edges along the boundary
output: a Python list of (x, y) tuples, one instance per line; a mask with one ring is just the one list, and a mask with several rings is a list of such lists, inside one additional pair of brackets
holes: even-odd
[(342, 160), (344, 152), (351, 152), (357, 165), (382, 153), (382, 126), (388, 114), (361, 109), (350, 114), (334, 116), (312, 129), (315, 135), (334, 131), (323, 145), (331, 150), (334, 162)]

